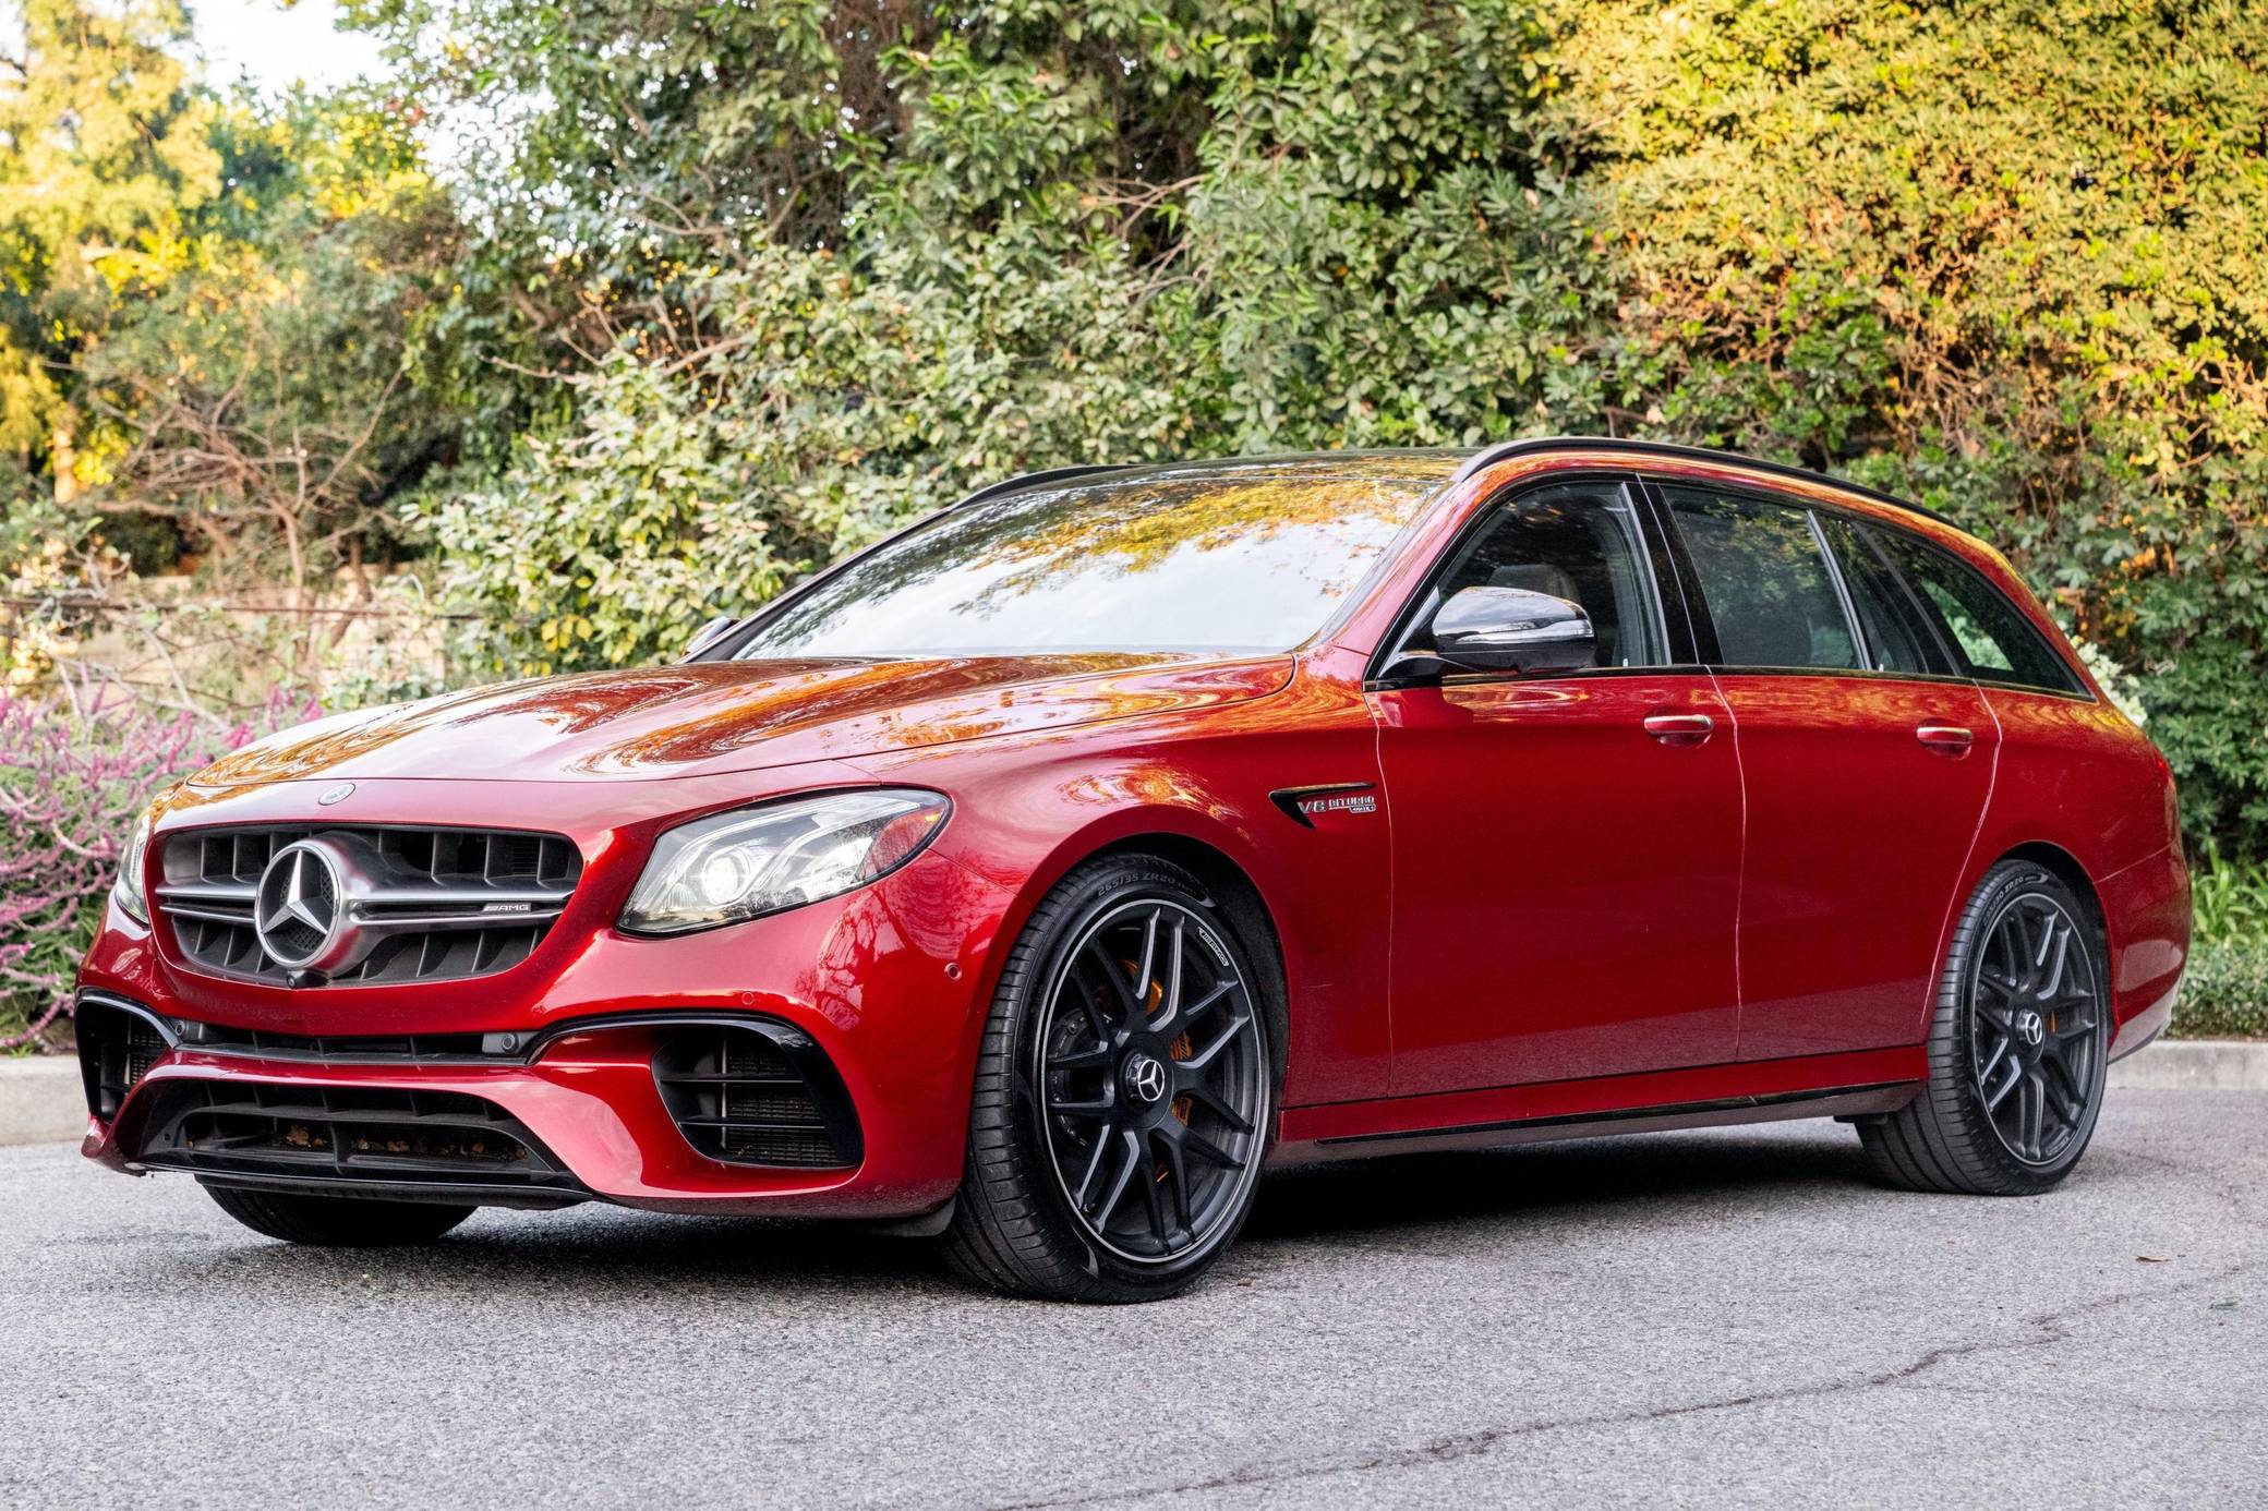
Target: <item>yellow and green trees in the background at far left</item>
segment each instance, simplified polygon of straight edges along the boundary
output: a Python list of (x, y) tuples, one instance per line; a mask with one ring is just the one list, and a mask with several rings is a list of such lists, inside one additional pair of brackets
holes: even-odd
[[(0, 499), (306, 592), (454, 447), (408, 347), (463, 250), (399, 109), (220, 98), (175, 0), (29, 0), (0, 64)], [(14, 73), (14, 84), (9, 75)]]

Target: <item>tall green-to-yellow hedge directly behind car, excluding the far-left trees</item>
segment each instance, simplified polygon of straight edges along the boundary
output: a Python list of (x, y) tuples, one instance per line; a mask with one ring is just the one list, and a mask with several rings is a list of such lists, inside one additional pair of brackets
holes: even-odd
[(367, 20), (481, 127), (431, 358), (488, 463), (429, 517), (485, 665), (660, 653), (1023, 465), (1651, 433), (1971, 524), (2139, 678), (2191, 824), (2268, 824), (2252, 7)]

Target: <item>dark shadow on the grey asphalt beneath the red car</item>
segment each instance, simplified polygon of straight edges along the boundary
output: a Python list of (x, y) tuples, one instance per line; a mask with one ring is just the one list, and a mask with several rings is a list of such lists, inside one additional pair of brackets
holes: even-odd
[[(1524, 1218), (1653, 1225), (1687, 1207), (1715, 1218), (1746, 1202), (1864, 1200), (1851, 1139), (1642, 1134), (1515, 1150), (1424, 1153), (1279, 1171), (1261, 1182), (1245, 1246), (1295, 1259), (1302, 1241), (1390, 1230), (1470, 1230), (1501, 1241)], [(678, 1300), (705, 1291), (973, 1295), (934, 1246), (850, 1223), (694, 1218), (585, 1205), (488, 1212), (426, 1248), (315, 1250), (240, 1234), (211, 1214), (220, 1248), (163, 1261), (166, 1284), (256, 1286), (268, 1300), (340, 1286), (422, 1293)], [(1232, 1261), (1234, 1264), (1234, 1261)]]

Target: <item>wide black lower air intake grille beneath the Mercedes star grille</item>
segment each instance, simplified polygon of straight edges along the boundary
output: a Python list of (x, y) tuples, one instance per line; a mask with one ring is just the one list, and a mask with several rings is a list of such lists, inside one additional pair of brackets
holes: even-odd
[(152, 1168), (581, 1196), (526, 1125), (463, 1091), (177, 1080), (152, 1094), (136, 1155)]

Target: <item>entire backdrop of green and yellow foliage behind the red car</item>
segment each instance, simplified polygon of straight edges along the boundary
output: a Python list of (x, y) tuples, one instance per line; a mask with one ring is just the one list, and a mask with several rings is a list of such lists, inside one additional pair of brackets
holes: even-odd
[(0, 542), (408, 560), (483, 676), (669, 653), (1021, 467), (1681, 438), (1998, 542), (2191, 833), (2268, 849), (2259, 7), (349, 14), (383, 88), (256, 100), (175, 0), (27, 2)]

